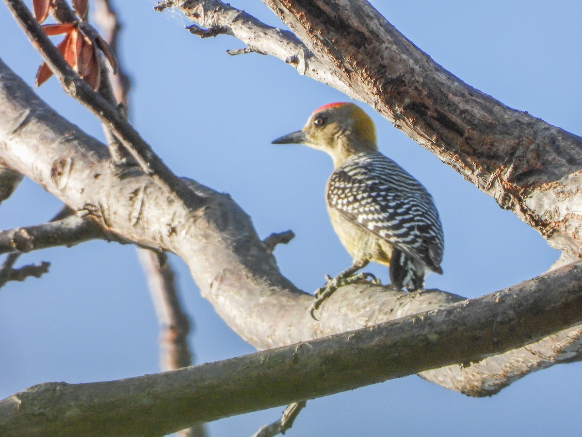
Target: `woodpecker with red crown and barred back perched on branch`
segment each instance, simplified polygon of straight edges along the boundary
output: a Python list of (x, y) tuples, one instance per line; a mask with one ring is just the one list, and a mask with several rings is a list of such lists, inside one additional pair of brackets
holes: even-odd
[(326, 188), (333, 230), (352, 265), (315, 291), (311, 316), (335, 290), (367, 278), (354, 274), (375, 261), (389, 266), (396, 290), (424, 287), (426, 270), (442, 274), (443, 232), (432, 196), (412, 175), (379, 153), (372, 119), (353, 103), (315, 110), (303, 129), (274, 144), (303, 144), (327, 152), (333, 172)]

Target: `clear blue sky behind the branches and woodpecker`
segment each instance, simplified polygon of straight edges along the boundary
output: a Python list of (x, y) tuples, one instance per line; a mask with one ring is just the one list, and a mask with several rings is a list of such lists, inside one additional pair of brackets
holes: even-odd
[[(541, 1), (372, 1), (397, 29), (460, 79), (510, 107), (582, 134), (582, 3)], [(200, 40), (177, 12), (155, 1), (116, 2), (125, 24), (122, 62), (133, 79), (130, 115), (141, 135), (178, 175), (229, 192), (261, 237), (292, 229), (275, 255), (306, 291), (350, 257), (333, 233), (324, 153), (271, 140), (303, 126), (315, 108), (347, 97), (299, 76), (278, 59), (230, 57), (234, 38)], [(233, 1), (268, 24), (258, 0)], [(0, 5), (0, 57), (33, 83), (39, 55)], [(9, 41), (9, 42), (7, 42)], [(38, 93), (62, 115), (102, 139), (98, 122), (63, 94), (55, 79)], [(558, 258), (544, 239), (499, 209), (455, 171), (370, 107), (382, 153), (415, 175), (435, 198), (445, 230), (443, 276), (427, 286), (476, 297), (544, 272)], [(41, 223), (59, 201), (25, 180), (0, 206), (0, 228)], [(46, 381), (90, 382), (158, 371), (158, 326), (132, 246), (89, 242), (29, 253), (48, 260), (42, 279), (0, 290), (0, 398)], [(195, 332), (196, 362), (253, 352), (200, 297), (182, 260), (172, 256)], [(368, 269), (388, 282), (381, 266)], [(73, 274), (71, 274), (73, 272)], [(580, 364), (554, 366), (487, 399), (471, 399), (416, 376), (310, 401), (289, 436), (579, 434)], [(208, 425), (211, 436), (251, 435), (282, 408)]]

